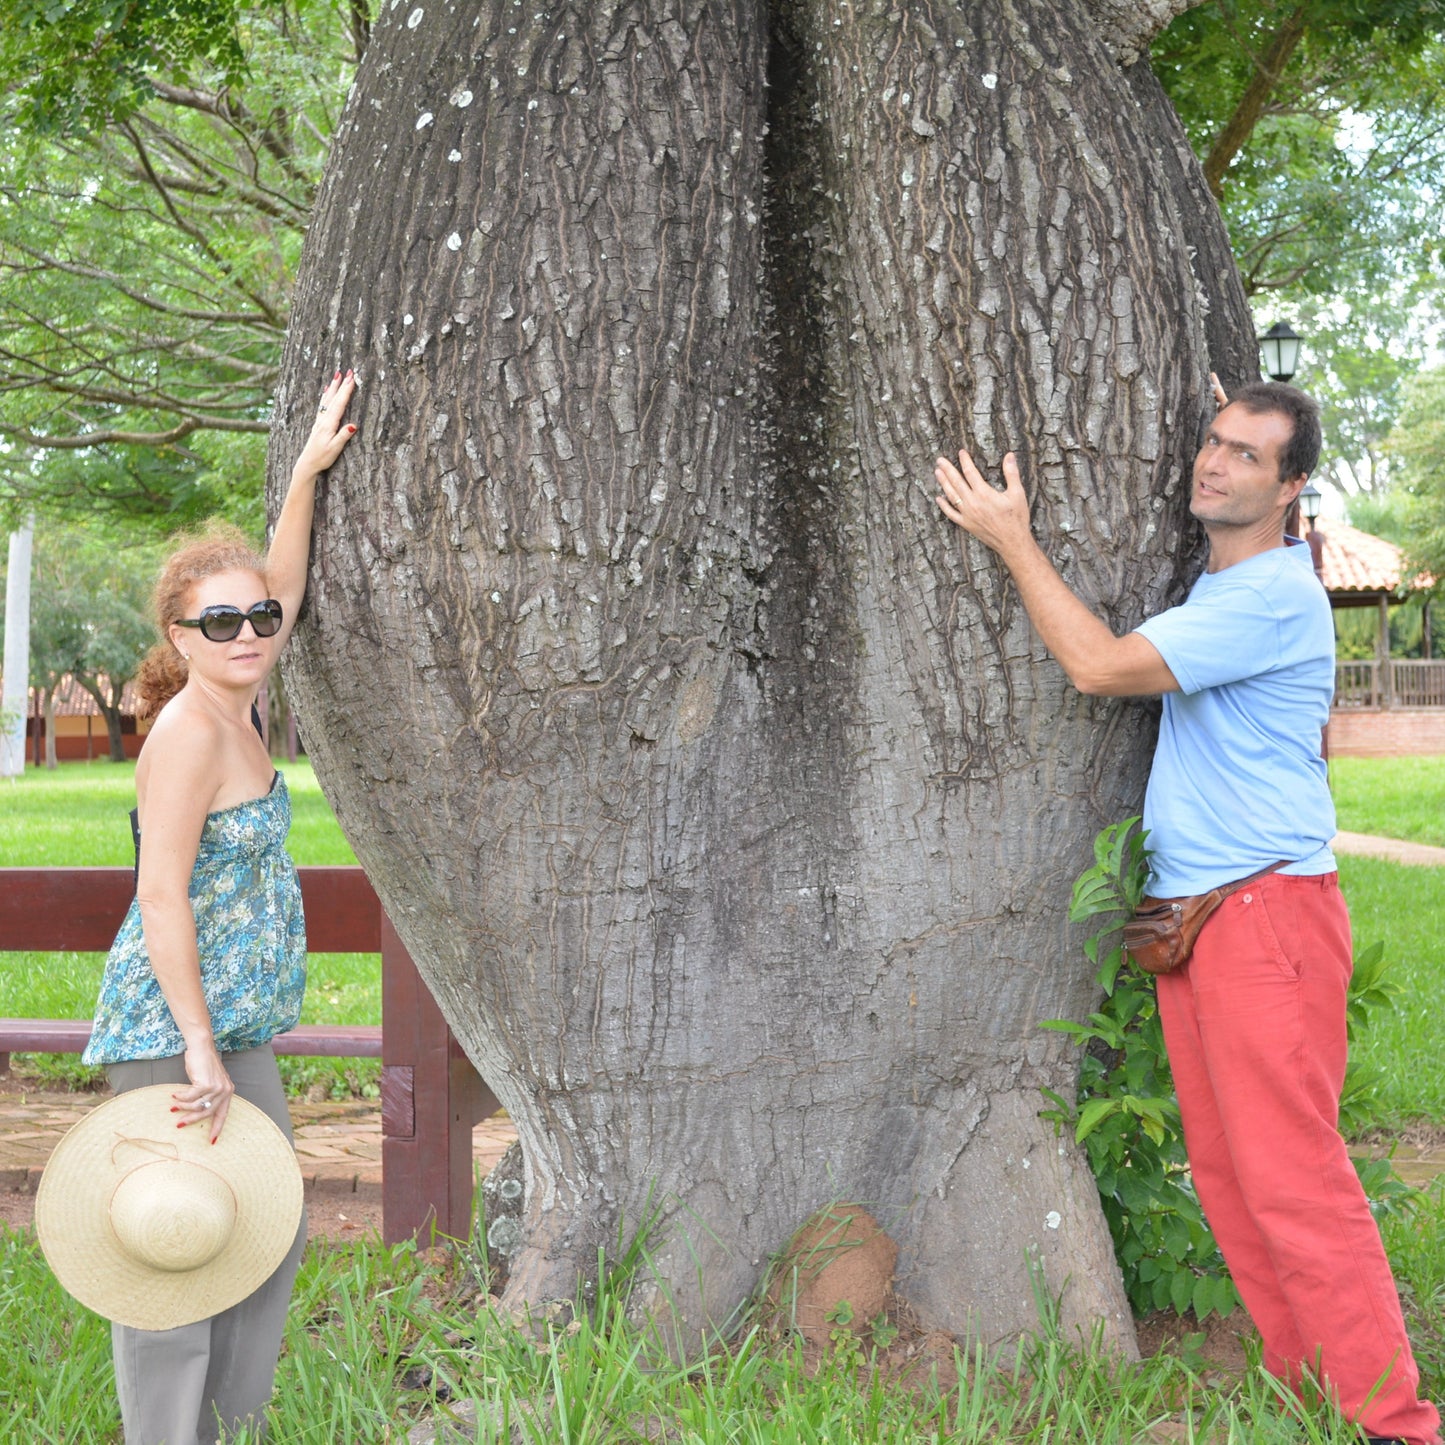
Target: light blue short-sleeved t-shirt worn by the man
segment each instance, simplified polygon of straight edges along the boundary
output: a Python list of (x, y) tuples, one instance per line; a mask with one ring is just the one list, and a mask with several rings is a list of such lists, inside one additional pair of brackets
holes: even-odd
[(1139, 633), (1165, 694), (1144, 798), (1156, 897), (1207, 893), (1289, 860), (1329, 873), (1335, 805), (1319, 734), (1335, 688), (1329, 598), (1303, 545), (1205, 572)]

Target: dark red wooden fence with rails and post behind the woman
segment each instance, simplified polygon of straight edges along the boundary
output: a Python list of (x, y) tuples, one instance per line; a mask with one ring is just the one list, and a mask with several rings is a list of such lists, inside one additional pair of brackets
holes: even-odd
[[(452, 1038), (381, 902), (357, 867), (299, 868), (306, 946), (381, 955), (381, 1027), (311, 1025), (277, 1053), (381, 1058), (381, 1230), (471, 1228), (471, 1130), (497, 1100)], [(104, 952), (134, 894), (130, 868), (0, 868), (0, 954)], [(7, 962), (0, 958), (0, 971)], [(19, 1049), (78, 1053), (88, 1020), (0, 1019), (0, 1072)]]

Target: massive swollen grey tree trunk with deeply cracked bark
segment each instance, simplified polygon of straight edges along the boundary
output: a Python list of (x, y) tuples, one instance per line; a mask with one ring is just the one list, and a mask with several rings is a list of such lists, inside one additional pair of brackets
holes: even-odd
[(851, 1198), (931, 1324), (1027, 1328), (1035, 1260), (1127, 1341), (1038, 1025), (1092, 1004), (1069, 880), (1152, 714), (931, 473), (1016, 448), (1091, 605), (1172, 601), (1189, 256), (1082, 0), (383, 9), (277, 399), (273, 501), (364, 379), (288, 688), (520, 1131), (513, 1300), (653, 1209), (692, 1335)]

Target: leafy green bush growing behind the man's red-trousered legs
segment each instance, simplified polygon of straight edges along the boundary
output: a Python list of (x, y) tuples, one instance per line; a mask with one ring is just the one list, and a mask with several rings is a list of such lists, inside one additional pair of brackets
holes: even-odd
[[(1189, 1176), (1173, 1077), (1165, 1053), (1155, 981), (1124, 967), (1120, 929), (1137, 907), (1149, 880), (1149, 848), (1139, 818), (1113, 824), (1094, 840), (1094, 866), (1074, 883), (1069, 918), (1103, 919), (1084, 944), (1104, 991), (1084, 1023), (1048, 1019), (1045, 1029), (1069, 1035), (1082, 1049), (1077, 1097), (1045, 1090), (1042, 1117), (1071, 1129), (1088, 1155), (1124, 1289), (1136, 1314), (1189, 1311), (1198, 1319), (1228, 1315), (1238, 1292), (1215, 1243)], [(1351, 1043), (1370, 1016), (1392, 1006), (1383, 944), (1361, 949), (1350, 984)], [(1341, 1100), (1341, 1127), (1367, 1127), (1368, 1069), (1351, 1062)], [(1407, 1207), (1412, 1191), (1387, 1159), (1357, 1163), (1377, 1214)]]

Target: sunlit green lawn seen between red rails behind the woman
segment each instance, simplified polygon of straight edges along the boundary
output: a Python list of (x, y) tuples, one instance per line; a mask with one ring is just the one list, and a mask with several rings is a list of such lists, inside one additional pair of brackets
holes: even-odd
[[(337, 825), (311, 763), (282, 769), (290, 792), (288, 847), (299, 864), (350, 864), (355, 854)], [(0, 867), (129, 867), (136, 764), (97, 760), (55, 772), (27, 767), (0, 780)], [(0, 954), (0, 1014), (22, 1019), (88, 1019), (100, 988), (103, 954)], [(380, 1023), (381, 955), (312, 954), (302, 1023)], [(77, 1055), (17, 1055), (19, 1072), (84, 1085), (97, 1071)], [(321, 1090), (371, 1094), (376, 1059), (282, 1059), (293, 1094)]]

